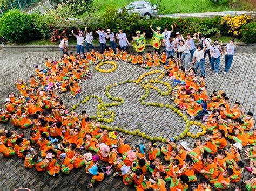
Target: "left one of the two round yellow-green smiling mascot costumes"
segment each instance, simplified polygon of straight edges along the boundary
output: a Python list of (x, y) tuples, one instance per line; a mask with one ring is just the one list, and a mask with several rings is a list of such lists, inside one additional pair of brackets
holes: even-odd
[(146, 48), (146, 33), (140, 34), (140, 30), (136, 31), (136, 37), (132, 36), (132, 46), (137, 51), (138, 55), (142, 55)]

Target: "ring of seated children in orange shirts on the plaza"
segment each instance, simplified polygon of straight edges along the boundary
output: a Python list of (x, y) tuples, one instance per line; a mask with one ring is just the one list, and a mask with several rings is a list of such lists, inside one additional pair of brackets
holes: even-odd
[[(156, 34), (161, 37), (159, 32)], [(180, 41), (179, 49), (185, 44)], [(184, 48), (186, 53), (190, 47)], [(197, 48), (198, 52), (205, 47)], [(201, 53), (194, 54), (197, 62), (204, 58)], [(1, 122), (10, 121), (17, 128), (30, 129), (30, 135), (0, 130), (1, 157), (17, 154), (24, 160), (24, 167), (35, 167), (55, 177), (60, 172), (70, 174), (74, 168), (84, 168), (92, 177), (88, 188), (114, 172), (114, 177), (122, 177), (124, 185), (133, 184), (137, 190), (167, 190), (166, 182), (170, 182), (173, 191), (187, 190), (189, 186), (201, 191), (228, 189), (230, 182), (239, 182), (245, 167), (241, 161), (242, 147), (251, 145), (245, 152), (246, 160), (250, 160), (245, 169), (255, 175), (256, 130), (246, 133), (253, 128), (252, 112), (244, 114), (239, 102), (230, 108), (229, 98), (221, 90), (208, 96), (203, 75), (197, 79), (193, 68), (186, 72), (186, 65), (181, 66), (179, 59), (167, 59), (165, 52), (163, 55), (160, 58), (158, 51), (154, 56), (148, 52), (143, 64), (142, 55), (137, 60), (125, 49), (121, 52), (117, 48), (113, 54), (110, 47), (104, 54), (92, 49), (76, 56), (64, 53), (60, 61), (45, 59), (46, 69), (35, 66), (36, 76), (30, 76), (29, 84), (17, 80), (19, 94), (9, 93), (4, 109), (0, 109)], [(102, 129), (100, 121), (93, 121), (86, 111), (81, 115), (69, 113), (57, 94), (70, 93), (78, 98), (80, 83), (91, 77), (88, 67), (104, 59), (139, 63), (145, 68), (166, 63), (166, 76), (174, 86), (171, 100), (191, 119), (203, 119), (207, 128), (204, 141), (196, 138), (194, 148), (189, 148), (185, 141), (176, 143), (173, 137), (167, 140), (167, 146), (158, 146), (156, 142), (129, 145), (123, 135)], [(185, 55), (184, 59), (189, 58)], [(225, 150), (229, 146), (231, 152)], [(102, 162), (109, 165), (100, 166)], [(247, 190), (255, 190), (256, 178), (244, 183)]]

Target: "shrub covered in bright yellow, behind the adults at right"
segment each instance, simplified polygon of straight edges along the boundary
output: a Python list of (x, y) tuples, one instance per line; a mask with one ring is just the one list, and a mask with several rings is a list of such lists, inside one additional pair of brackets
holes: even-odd
[(221, 19), (221, 24), (224, 24), (227, 27), (228, 33), (232, 33), (233, 36), (240, 36), (242, 25), (250, 22), (250, 18), (251, 15), (241, 15), (235, 17), (226, 15)]

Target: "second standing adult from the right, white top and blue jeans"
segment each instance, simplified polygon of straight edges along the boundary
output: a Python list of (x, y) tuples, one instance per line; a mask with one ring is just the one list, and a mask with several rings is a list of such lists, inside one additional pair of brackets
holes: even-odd
[(214, 44), (211, 46), (211, 54), (212, 54), (212, 58), (211, 58), (211, 69), (214, 70), (215, 68), (215, 75), (219, 74), (219, 66), (220, 66), (220, 58), (221, 58), (221, 45), (222, 43), (220, 43), (220, 45), (218, 44), (219, 41), (218, 40), (214, 40)]

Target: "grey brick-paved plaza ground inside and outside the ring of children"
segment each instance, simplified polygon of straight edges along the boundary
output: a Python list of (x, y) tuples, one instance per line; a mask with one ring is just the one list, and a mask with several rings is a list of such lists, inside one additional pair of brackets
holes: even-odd
[[(1, 107), (3, 102), (10, 91), (17, 93), (17, 89), (14, 85), (16, 79), (22, 78), (28, 81), (30, 75), (35, 75), (34, 65), (39, 65), (39, 68), (44, 68), (44, 58), (50, 60), (60, 60), (62, 54), (57, 51), (52, 52), (11, 52), (0, 49), (0, 102)], [(61, 94), (66, 108), (71, 108), (72, 105), (80, 103), (88, 95), (97, 95), (102, 97), (104, 103), (113, 102), (106, 95), (106, 86), (126, 80), (137, 80), (140, 75), (149, 72), (151, 70), (163, 68), (153, 68), (150, 70), (143, 69), (139, 66), (131, 66), (130, 63), (123, 61), (117, 62), (117, 70), (111, 73), (100, 73), (95, 70), (95, 66), (91, 66), (92, 79), (85, 80), (82, 83), (82, 94), (76, 100), (70, 97), (70, 93)], [(206, 85), (208, 93), (211, 94), (213, 90), (224, 90), (227, 97), (230, 98), (231, 108), (235, 101), (240, 102), (245, 112), (251, 111), (254, 114), (254, 120), (256, 115), (255, 110), (255, 66), (256, 66), (256, 53), (237, 52), (234, 56), (233, 65), (230, 72), (226, 75), (224, 72), (224, 56), (221, 58), (221, 69), (219, 76), (215, 76), (215, 72), (211, 70), (210, 63), (206, 59)], [(111, 68), (112, 66), (102, 66), (101, 68)], [(198, 71), (199, 73), (199, 71)], [(143, 79), (150, 80), (158, 77), (159, 74), (153, 74)], [(171, 81), (164, 77), (163, 81)], [(157, 86), (162, 90), (167, 90), (161, 84)], [(142, 105), (139, 102), (139, 98), (145, 94), (145, 90), (142, 84), (125, 83), (120, 86), (116, 86), (110, 89), (110, 94), (113, 97), (124, 98), (124, 104), (118, 107), (108, 108), (114, 110), (116, 116), (114, 121), (110, 124), (103, 124), (109, 126), (118, 126), (127, 130), (139, 129), (145, 132), (149, 136), (163, 136), (169, 138), (180, 135), (185, 129), (184, 120), (174, 113), (171, 109), (166, 107), (153, 107)], [(170, 100), (171, 95), (161, 96), (156, 91), (150, 90), (149, 97), (145, 102), (158, 102), (165, 104), (173, 104)], [(79, 113), (82, 110), (86, 110), (90, 116), (97, 116), (98, 101), (96, 98), (91, 99), (85, 104), (81, 104), (76, 111)], [(8, 130), (14, 130), (14, 126), (8, 124), (0, 124), (0, 129), (5, 128)], [(192, 132), (201, 131), (198, 126), (192, 125)], [(18, 129), (18, 132), (21, 132)], [(25, 137), (29, 136), (29, 129), (25, 130)], [(120, 132), (118, 132), (120, 135)], [(147, 139), (142, 137), (132, 136), (124, 134), (127, 137), (127, 141), (130, 145), (136, 145), (143, 143), (147, 149)], [(185, 137), (184, 139), (190, 148), (193, 148), (194, 139)], [(159, 145), (166, 146), (166, 144), (159, 142)], [(247, 148), (247, 147), (246, 147)], [(84, 151), (83, 151), (84, 152)], [(242, 155), (244, 158), (245, 155)], [(244, 160), (243, 160), (244, 161)], [(246, 162), (246, 161), (244, 161)], [(245, 163), (248, 166), (248, 162)], [(12, 158), (1, 159), (0, 162), (0, 190), (14, 190), (19, 187), (27, 187), (32, 190), (87, 190), (87, 183), (91, 180), (91, 177), (85, 173), (85, 169), (75, 169), (72, 174), (61, 174), (59, 178), (53, 178), (46, 172), (37, 172), (35, 168), (26, 169), (24, 167), (24, 161), (17, 156)], [(248, 180), (250, 174), (245, 171), (242, 174), (242, 180)], [(146, 176), (149, 179), (149, 176)], [(239, 182), (240, 185), (241, 181)], [(169, 186), (169, 184), (168, 184)], [(229, 190), (234, 190), (235, 185), (231, 183)], [(90, 190), (134, 190), (133, 186), (124, 186), (121, 178), (113, 178), (112, 176), (106, 177), (102, 182), (96, 183)]]

